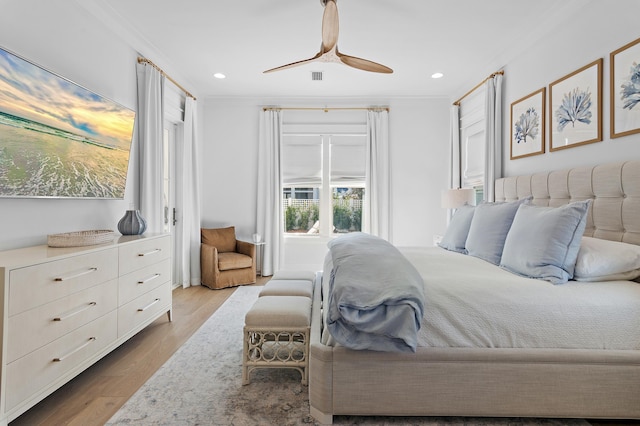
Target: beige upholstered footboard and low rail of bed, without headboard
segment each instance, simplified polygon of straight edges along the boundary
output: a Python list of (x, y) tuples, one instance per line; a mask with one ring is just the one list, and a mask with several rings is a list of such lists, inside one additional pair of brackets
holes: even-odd
[(321, 344), (321, 322), (314, 309), (309, 401), (321, 423), (341, 414), (640, 418), (637, 351), (353, 351)]

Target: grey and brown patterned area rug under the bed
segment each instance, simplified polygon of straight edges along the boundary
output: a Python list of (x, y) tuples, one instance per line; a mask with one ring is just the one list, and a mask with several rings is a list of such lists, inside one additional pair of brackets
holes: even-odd
[[(318, 425), (300, 373), (258, 369), (242, 386), (244, 315), (261, 287), (239, 287), (107, 425)], [(337, 425), (589, 425), (578, 419), (335, 416)]]

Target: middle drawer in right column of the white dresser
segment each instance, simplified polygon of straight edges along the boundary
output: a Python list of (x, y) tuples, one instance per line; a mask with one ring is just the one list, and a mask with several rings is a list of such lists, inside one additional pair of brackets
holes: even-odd
[(133, 271), (118, 279), (118, 306), (171, 281), (171, 259)]

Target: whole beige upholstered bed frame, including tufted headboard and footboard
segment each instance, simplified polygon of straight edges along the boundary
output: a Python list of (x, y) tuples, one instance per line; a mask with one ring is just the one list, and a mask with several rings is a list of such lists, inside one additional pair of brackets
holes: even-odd
[[(640, 161), (496, 182), (497, 200), (594, 199), (586, 235), (640, 244)], [(321, 274), (312, 313), (311, 414), (640, 419), (640, 351), (418, 348), (321, 343)]]

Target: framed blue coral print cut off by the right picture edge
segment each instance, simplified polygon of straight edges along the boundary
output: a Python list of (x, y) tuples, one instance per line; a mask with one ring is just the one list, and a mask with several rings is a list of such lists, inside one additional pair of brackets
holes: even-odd
[(640, 38), (610, 56), (611, 138), (640, 133)]

